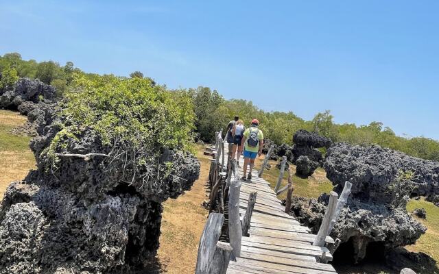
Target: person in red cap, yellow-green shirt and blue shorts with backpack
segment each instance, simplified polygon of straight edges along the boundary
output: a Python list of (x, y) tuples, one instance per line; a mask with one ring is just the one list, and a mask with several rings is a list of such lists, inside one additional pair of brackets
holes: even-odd
[[(256, 159), (256, 156), (261, 156), (263, 147), (263, 133), (259, 129), (259, 121), (257, 119), (253, 119), (251, 127), (244, 132), (241, 146), (244, 147), (244, 176), (241, 179), (252, 179), (254, 159)], [(250, 170), (246, 177), (248, 162), (250, 162)]]

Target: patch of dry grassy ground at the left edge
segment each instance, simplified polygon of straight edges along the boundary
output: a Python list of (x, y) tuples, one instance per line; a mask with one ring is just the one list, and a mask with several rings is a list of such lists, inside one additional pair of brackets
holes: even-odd
[(17, 136), (10, 131), (26, 122), (26, 116), (0, 110), (0, 199), (12, 181), (24, 179), (35, 167), (34, 155), (29, 149), (30, 137)]

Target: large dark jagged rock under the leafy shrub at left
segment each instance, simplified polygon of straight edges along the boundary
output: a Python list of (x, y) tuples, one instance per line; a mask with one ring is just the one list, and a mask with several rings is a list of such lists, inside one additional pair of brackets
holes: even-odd
[[(35, 95), (37, 93), (34, 93)], [(60, 127), (53, 105), (28, 112), (38, 136), (31, 142), (38, 169), (11, 184), (0, 205), (0, 273), (134, 273), (154, 261), (161, 203), (189, 190), (198, 160), (157, 148), (169, 170), (145, 173), (126, 162), (122, 143), (104, 145), (93, 131), (67, 138), (49, 164), (47, 148)], [(56, 170), (47, 170), (48, 166)]]

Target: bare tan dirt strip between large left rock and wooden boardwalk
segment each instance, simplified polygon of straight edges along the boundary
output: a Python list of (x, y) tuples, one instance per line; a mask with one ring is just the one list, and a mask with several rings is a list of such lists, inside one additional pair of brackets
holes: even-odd
[(198, 147), (201, 163), (200, 179), (191, 190), (178, 199), (163, 203), (158, 261), (162, 273), (194, 273), (202, 229), (209, 211), (201, 204), (206, 199), (204, 184), (209, 175), (209, 158), (203, 155), (204, 147)]

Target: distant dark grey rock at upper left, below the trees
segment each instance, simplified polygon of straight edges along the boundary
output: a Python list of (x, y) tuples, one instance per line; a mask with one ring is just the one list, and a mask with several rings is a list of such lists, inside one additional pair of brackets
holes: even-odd
[[(13, 87), (0, 90), (0, 108), (16, 110), (23, 102), (38, 103), (54, 99), (55, 88), (39, 79), (21, 78)], [(24, 110), (25, 111), (25, 110)]]

